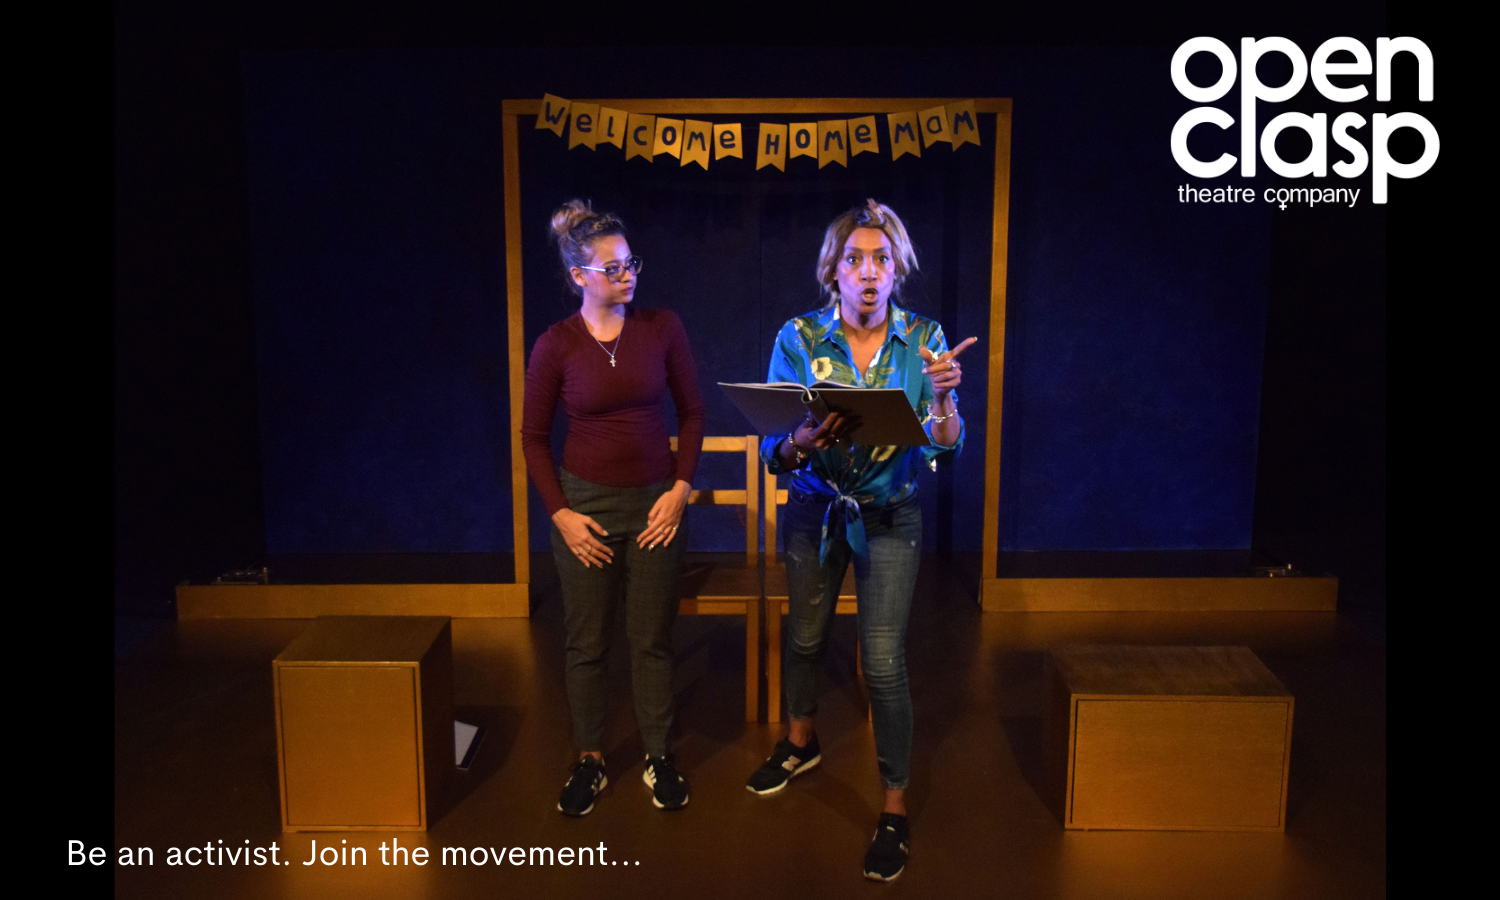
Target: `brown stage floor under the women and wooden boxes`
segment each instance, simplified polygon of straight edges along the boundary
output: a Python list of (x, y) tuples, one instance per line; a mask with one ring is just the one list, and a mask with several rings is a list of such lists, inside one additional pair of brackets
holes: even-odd
[[(447, 812), (422, 832), (282, 834), (270, 662), (308, 621), (117, 628), (116, 897), (1383, 897), (1386, 651), (1318, 612), (981, 614), (974, 579), (924, 561), (908, 640), (916, 740), (912, 856), (892, 885), (860, 876), (880, 804), (874, 744), (840, 616), (819, 716), (824, 765), (758, 798), (744, 780), (783, 726), (742, 722), (744, 636), (729, 616), (676, 627), (676, 813), (651, 806), (616, 634), (610, 786), (592, 814), (555, 808), (572, 760), (555, 597), (530, 620), (454, 620), (454, 702), (489, 729)], [(1042, 654), (1058, 644), (1246, 645), (1296, 696), (1286, 834), (1064, 831), (1038, 796)], [(424, 867), (380, 846), (426, 846)], [(170, 848), (268, 848), (291, 866), (168, 866)], [(303, 866), (364, 846), (366, 866)], [(610, 866), (444, 866), (441, 848), (596, 848)]]

